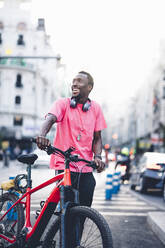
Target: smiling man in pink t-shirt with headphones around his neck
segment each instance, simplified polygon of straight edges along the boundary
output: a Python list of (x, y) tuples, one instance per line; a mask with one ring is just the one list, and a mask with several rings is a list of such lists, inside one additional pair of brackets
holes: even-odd
[[(87, 72), (81, 71), (73, 79), (72, 97), (57, 100), (46, 116), (46, 120), (37, 137), (40, 149), (50, 144), (45, 138), (54, 123), (57, 123), (54, 146), (67, 150), (70, 146), (76, 148), (73, 154), (81, 158), (94, 161), (102, 172), (105, 164), (101, 160), (102, 139), (101, 130), (106, 128), (106, 123), (100, 106), (91, 101), (88, 96), (93, 88), (93, 78)], [(51, 155), (50, 168), (61, 172), (64, 170), (64, 161), (58, 155)], [(81, 205), (91, 206), (95, 188), (95, 179), (92, 168), (79, 162), (77, 167), (71, 165), (71, 180), (73, 187), (77, 188), (77, 178), (82, 172), (79, 182), (79, 200)]]

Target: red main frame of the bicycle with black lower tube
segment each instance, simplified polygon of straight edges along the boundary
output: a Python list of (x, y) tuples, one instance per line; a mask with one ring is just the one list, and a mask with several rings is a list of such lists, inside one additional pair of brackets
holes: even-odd
[[(65, 171), (65, 173), (61, 173), (56, 175), (54, 178), (49, 179), (48, 181), (36, 186), (35, 188), (28, 187), (26, 190), (26, 193), (22, 195), (9, 209), (4, 213), (4, 215), (0, 218), (0, 221), (3, 220), (3, 218), (7, 215), (7, 213), (14, 208), (18, 203), (25, 204), (26, 206), (26, 220), (25, 225), (23, 229), (27, 231), (26, 240), (28, 240), (28, 243), (31, 241), (37, 242), (40, 237), (42, 236), (52, 214), (54, 213), (54, 210), (60, 200), (60, 186), (67, 183), (67, 174), (70, 174), (70, 171)], [(45, 204), (34, 224), (32, 227), (31, 221), (30, 221), (30, 203), (31, 203), (31, 194), (35, 193), (36, 191), (47, 187), (48, 185), (51, 185), (54, 182), (59, 181), (60, 182), (54, 187), (52, 192), (50, 193), (49, 197), (45, 201)], [(64, 183), (65, 182), (65, 183)], [(70, 182), (68, 181), (70, 184)], [(23, 202), (22, 200), (26, 197), (26, 201)], [(0, 234), (0, 238), (5, 239), (9, 243), (14, 243), (16, 241), (16, 237), (13, 239), (9, 239), (3, 234)], [(30, 240), (29, 240), (30, 239)]]

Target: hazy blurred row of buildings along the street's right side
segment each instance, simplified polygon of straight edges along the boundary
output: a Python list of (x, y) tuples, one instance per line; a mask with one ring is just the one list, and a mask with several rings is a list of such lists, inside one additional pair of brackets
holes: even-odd
[[(165, 152), (165, 42), (160, 56), (147, 81), (134, 98), (120, 111), (117, 118), (111, 116), (110, 144), (116, 148), (134, 147), (138, 152)], [(123, 106), (121, 106), (123, 109)], [(116, 134), (117, 139), (113, 138)], [(115, 137), (116, 137), (115, 136)]]

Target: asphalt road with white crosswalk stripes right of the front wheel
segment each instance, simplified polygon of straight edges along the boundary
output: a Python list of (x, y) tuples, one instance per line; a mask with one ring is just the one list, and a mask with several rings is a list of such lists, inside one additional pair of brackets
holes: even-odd
[(158, 208), (134, 196), (128, 185), (123, 185), (111, 201), (105, 201), (104, 189), (96, 189), (93, 207), (108, 221), (114, 248), (164, 247), (147, 224), (147, 213)]

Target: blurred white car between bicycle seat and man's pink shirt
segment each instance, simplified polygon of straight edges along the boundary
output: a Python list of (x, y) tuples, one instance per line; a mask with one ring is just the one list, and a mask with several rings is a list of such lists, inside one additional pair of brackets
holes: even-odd
[(37, 167), (49, 167), (50, 164), (50, 156), (43, 150), (36, 149), (33, 153), (37, 154), (38, 158), (34, 162), (34, 168)]

